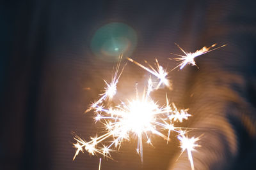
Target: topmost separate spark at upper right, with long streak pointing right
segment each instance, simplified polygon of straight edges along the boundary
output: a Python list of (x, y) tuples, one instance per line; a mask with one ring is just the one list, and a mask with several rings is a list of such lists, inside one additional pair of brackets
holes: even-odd
[[(180, 50), (185, 55), (179, 55), (179, 54), (175, 54), (175, 53), (171, 53), (171, 54), (179, 56), (179, 58), (175, 58), (175, 60), (180, 61), (180, 63), (178, 64), (177, 67), (180, 67), (180, 69), (182, 69), (184, 66), (186, 66), (186, 64), (191, 64), (192, 66), (196, 66), (195, 57), (198, 57), (199, 55), (203, 55), (204, 53), (211, 52), (213, 50), (217, 50), (218, 48), (222, 48), (223, 46), (226, 46), (226, 45), (221, 45), (221, 46), (218, 46), (213, 49), (211, 49), (211, 48), (216, 46), (216, 44), (211, 45), (209, 47), (204, 46), (200, 50), (196, 50), (196, 52), (185, 52), (179, 45), (177, 45), (177, 46), (180, 48)], [(171, 59), (171, 58), (169, 58), (169, 59)], [(176, 69), (177, 67), (175, 67), (173, 69)]]

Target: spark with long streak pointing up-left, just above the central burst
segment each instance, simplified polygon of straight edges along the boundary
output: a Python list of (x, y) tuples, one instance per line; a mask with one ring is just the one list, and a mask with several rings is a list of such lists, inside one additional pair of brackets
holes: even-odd
[(154, 67), (152, 67), (150, 64), (148, 64), (147, 61), (145, 61), (148, 67), (143, 66), (142, 64), (136, 62), (135, 60), (132, 60), (131, 58), (127, 57), (127, 60), (133, 62), (134, 64), (140, 66), (141, 68), (145, 69), (146, 71), (148, 71), (149, 73), (153, 74), (154, 76), (156, 76), (159, 79), (159, 83), (156, 86), (156, 90), (159, 89), (159, 87), (164, 84), (166, 87), (168, 87), (169, 89), (172, 89), (172, 83), (170, 82), (170, 80), (168, 80), (167, 76), (168, 76), (168, 72), (164, 70), (164, 68), (162, 66), (159, 65), (158, 60), (156, 59), (156, 69), (154, 69)]

